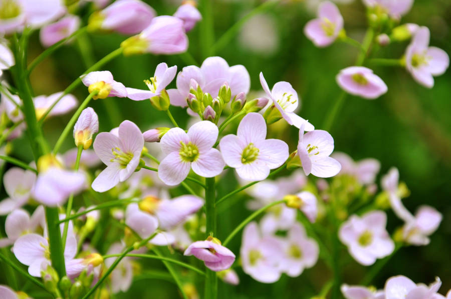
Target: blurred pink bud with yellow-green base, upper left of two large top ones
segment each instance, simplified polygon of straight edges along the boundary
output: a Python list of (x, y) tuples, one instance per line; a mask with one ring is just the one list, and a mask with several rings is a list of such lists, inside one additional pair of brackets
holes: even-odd
[(155, 10), (140, 0), (118, 0), (89, 17), (90, 31), (117, 31), (136, 34), (144, 30), (155, 17)]

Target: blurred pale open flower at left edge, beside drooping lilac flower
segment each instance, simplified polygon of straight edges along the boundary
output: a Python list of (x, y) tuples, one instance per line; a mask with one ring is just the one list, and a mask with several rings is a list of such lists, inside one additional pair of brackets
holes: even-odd
[(3, 185), (9, 198), (0, 201), (0, 215), (6, 215), (23, 206), (30, 199), (36, 181), (36, 173), (19, 167), (12, 167), (3, 176)]

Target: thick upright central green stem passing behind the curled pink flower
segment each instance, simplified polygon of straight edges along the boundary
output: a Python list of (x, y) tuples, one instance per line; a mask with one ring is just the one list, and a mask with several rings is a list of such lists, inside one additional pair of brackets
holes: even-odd
[[(206, 235), (216, 235), (216, 202), (214, 177), (205, 178), (205, 217), (206, 217)], [(216, 299), (217, 296), (217, 276), (216, 272), (205, 269), (205, 293), (204, 298)]]

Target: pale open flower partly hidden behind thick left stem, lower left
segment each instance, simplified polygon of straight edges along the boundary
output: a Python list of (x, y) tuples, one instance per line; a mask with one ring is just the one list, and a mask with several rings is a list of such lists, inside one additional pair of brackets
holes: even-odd
[[(41, 270), (47, 269), (51, 263), (49, 241), (40, 234), (29, 233), (19, 237), (14, 242), (13, 252), (20, 262), (29, 266), (28, 272), (32, 276), (41, 277)], [(66, 263), (74, 258), (76, 252), (77, 240), (69, 229), (64, 249)]]

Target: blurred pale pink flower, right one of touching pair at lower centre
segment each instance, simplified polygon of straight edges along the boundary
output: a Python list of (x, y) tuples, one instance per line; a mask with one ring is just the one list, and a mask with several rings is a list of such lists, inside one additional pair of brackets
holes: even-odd
[(305, 268), (315, 265), (319, 256), (318, 244), (307, 237), (305, 229), (300, 224), (294, 224), (288, 231), (286, 239), (282, 240), (285, 258), (281, 262), (281, 269), (288, 276), (297, 277)]

